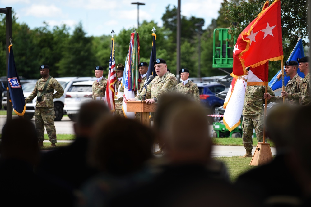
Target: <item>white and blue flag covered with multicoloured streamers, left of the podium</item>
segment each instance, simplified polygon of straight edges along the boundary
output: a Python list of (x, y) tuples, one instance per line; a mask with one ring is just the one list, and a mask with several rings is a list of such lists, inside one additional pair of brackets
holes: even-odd
[(122, 110), (125, 117), (135, 118), (134, 112), (127, 112), (125, 100), (134, 98), (135, 91), (138, 88), (138, 64), (139, 64), (139, 36), (138, 33), (131, 34), (128, 55), (125, 60), (125, 68), (121, 81), (121, 86), (124, 89)]

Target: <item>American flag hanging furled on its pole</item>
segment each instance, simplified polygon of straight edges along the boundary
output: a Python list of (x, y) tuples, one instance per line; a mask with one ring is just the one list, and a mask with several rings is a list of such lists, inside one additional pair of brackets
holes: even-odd
[(109, 60), (109, 71), (108, 71), (108, 81), (107, 81), (107, 88), (105, 92), (105, 102), (108, 105), (108, 108), (111, 112), (114, 112), (115, 105), (114, 105), (114, 83), (117, 81), (116, 77), (116, 61), (114, 59), (114, 38), (112, 38), (112, 48), (110, 53), (110, 60)]

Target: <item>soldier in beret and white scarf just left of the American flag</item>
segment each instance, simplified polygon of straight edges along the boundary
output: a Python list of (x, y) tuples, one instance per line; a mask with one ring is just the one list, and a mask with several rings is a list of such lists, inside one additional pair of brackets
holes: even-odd
[(103, 77), (104, 68), (96, 66), (94, 69), (96, 80), (92, 85), (92, 99), (105, 100), (105, 92), (107, 88), (107, 79)]

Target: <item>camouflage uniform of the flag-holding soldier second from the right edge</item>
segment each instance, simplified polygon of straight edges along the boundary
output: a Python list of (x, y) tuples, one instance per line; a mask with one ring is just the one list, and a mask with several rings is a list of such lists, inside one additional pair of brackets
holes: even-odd
[[(290, 79), (290, 81), (287, 82), (287, 85), (285, 87), (285, 91), (288, 94), (295, 94), (295, 93), (299, 93), (299, 84), (301, 82), (302, 78), (296, 74), (292, 79)], [(298, 104), (299, 101), (298, 100), (289, 100), (288, 98), (285, 99), (286, 102), (289, 102), (290, 104)], [(277, 102), (277, 103), (283, 103), (283, 97), (282, 96), (275, 96), (275, 97), (271, 97), (271, 102)]]

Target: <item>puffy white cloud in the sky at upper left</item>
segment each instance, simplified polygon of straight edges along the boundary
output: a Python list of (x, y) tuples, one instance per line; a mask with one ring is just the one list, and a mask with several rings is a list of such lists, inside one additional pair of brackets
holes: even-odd
[(39, 5), (33, 4), (28, 8), (23, 8), (25, 16), (35, 17), (60, 17), (62, 16), (62, 10), (55, 5)]

